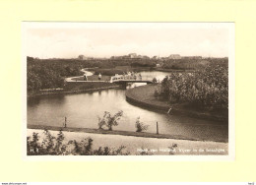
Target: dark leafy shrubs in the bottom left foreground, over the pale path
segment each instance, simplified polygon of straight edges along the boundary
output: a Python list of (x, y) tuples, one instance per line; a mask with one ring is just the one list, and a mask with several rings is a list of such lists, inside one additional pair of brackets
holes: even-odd
[(32, 133), (32, 138), (27, 137), (27, 154), (28, 155), (127, 155), (125, 147), (119, 148), (99, 147), (93, 149), (93, 139), (86, 138), (81, 142), (70, 140), (63, 144), (64, 134), (60, 131), (57, 138), (53, 137), (49, 131), (43, 132), (43, 139), (40, 141), (38, 133)]

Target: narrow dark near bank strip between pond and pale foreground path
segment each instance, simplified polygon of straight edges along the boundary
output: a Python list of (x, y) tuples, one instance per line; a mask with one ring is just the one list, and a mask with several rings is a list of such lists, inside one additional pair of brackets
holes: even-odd
[(120, 136), (133, 136), (142, 138), (157, 138), (157, 139), (173, 139), (173, 140), (186, 140), (186, 141), (199, 141), (199, 142), (216, 142), (216, 143), (228, 143), (224, 140), (200, 140), (198, 138), (187, 138), (181, 135), (167, 135), (167, 134), (155, 134), (147, 132), (133, 132), (133, 131), (120, 131), (120, 130), (103, 130), (93, 128), (75, 128), (75, 127), (57, 127), (57, 126), (44, 126), (44, 125), (27, 125), (27, 129), (35, 130), (50, 130), (50, 131), (67, 131), (76, 133), (92, 133), (101, 135), (120, 135)]

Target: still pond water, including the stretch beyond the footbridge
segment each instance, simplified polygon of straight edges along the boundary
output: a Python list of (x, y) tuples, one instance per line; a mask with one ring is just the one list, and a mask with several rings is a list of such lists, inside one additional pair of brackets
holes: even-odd
[[(167, 73), (142, 72), (143, 77), (157, 77), (162, 80)], [(131, 87), (141, 86), (133, 84)], [(52, 94), (28, 99), (28, 124), (63, 126), (67, 117), (68, 127), (97, 128), (97, 116), (104, 111), (111, 114), (123, 110), (119, 125), (113, 130), (136, 131), (135, 122), (140, 120), (150, 125), (146, 132), (156, 133), (159, 123), (160, 134), (182, 135), (201, 140), (227, 141), (227, 124), (181, 115), (154, 112), (130, 104), (124, 90), (104, 90), (74, 94)]]

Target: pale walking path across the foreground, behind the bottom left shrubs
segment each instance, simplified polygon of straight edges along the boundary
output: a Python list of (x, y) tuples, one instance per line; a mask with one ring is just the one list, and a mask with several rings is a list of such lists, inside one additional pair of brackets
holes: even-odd
[[(52, 136), (57, 137), (59, 131), (49, 131)], [(28, 129), (28, 136), (32, 137), (32, 133), (38, 133), (39, 142), (43, 141), (45, 137), (43, 130)], [(226, 155), (228, 154), (228, 144), (219, 142), (203, 142), (203, 141), (189, 141), (189, 140), (175, 140), (175, 139), (161, 139), (161, 138), (144, 138), (134, 136), (121, 136), (111, 134), (95, 134), (83, 132), (68, 132), (63, 131), (64, 144), (70, 140), (81, 142), (90, 137), (94, 140), (93, 148), (110, 147), (118, 149), (120, 146), (125, 147), (125, 151), (130, 152), (132, 155), (146, 152), (147, 154), (164, 154), (168, 155), (170, 147), (173, 144), (177, 145), (172, 154), (177, 155)], [(211, 156), (210, 156), (211, 157)], [(182, 159), (184, 159), (182, 157)], [(209, 158), (208, 158), (209, 159)]]

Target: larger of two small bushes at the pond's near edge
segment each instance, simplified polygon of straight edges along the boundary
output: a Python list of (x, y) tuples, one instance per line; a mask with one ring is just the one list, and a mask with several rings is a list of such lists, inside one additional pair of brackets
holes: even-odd
[(109, 131), (111, 131), (113, 126), (118, 125), (118, 120), (122, 116), (123, 116), (123, 111), (122, 110), (118, 111), (113, 116), (110, 114), (110, 112), (105, 111), (102, 118), (97, 116), (98, 128), (102, 129), (102, 127), (105, 126)]

